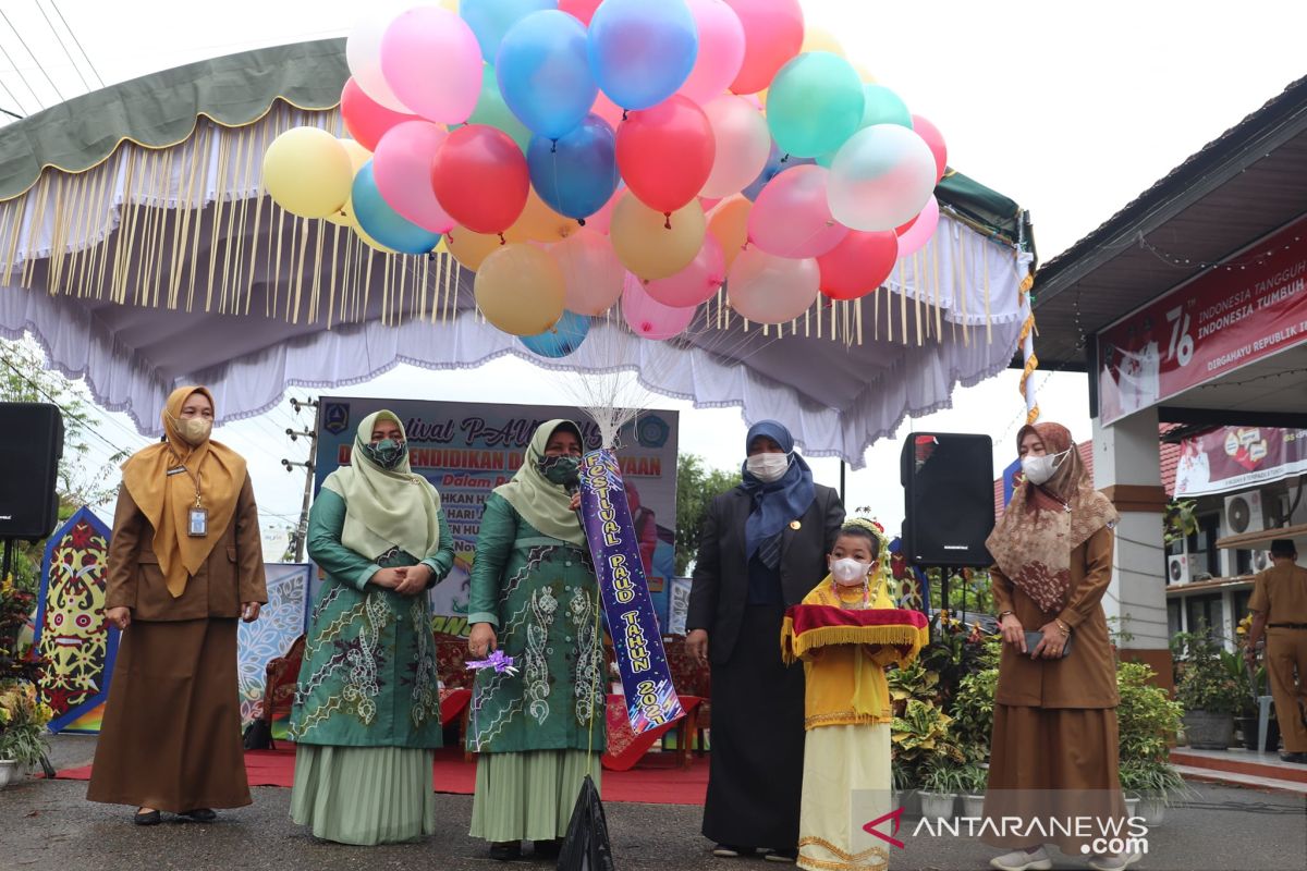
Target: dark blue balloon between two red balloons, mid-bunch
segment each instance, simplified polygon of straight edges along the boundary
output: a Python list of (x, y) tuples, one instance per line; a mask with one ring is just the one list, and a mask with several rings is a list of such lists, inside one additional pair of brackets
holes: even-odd
[(569, 218), (588, 218), (604, 208), (621, 179), (617, 137), (603, 118), (587, 115), (557, 142), (532, 136), (527, 167), (531, 187), (550, 209)]

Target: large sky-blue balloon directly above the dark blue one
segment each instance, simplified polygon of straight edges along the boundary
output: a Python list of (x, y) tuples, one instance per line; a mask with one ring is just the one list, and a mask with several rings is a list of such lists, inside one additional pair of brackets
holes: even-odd
[(512, 114), (552, 140), (580, 124), (599, 94), (586, 60), (586, 26), (557, 9), (512, 26), (499, 46), (495, 77)]

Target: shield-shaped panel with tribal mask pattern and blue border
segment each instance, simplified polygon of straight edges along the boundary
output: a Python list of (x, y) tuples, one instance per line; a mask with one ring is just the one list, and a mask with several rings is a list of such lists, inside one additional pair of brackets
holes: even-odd
[(46, 545), (34, 644), (48, 662), (41, 695), (55, 712), (50, 731), (99, 731), (118, 656), (105, 619), (110, 529), (80, 508)]

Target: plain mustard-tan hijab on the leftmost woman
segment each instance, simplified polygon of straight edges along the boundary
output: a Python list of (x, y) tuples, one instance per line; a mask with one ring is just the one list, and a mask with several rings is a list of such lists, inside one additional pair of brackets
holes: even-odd
[[(187, 580), (227, 531), (247, 474), (244, 458), (231, 448), (212, 439), (192, 448), (182, 440), (176, 422), (192, 393), (203, 393), (213, 402), (213, 394), (203, 387), (173, 390), (162, 414), (167, 440), (137, 451), (123, 464), (123, 486), (154, 528), (154, 554), (173, 598), (186, 592)], [(217, 411), (217, 405), (213, 407)], [(167, 474), (178, 466), (186, 471)], [(209, 512), (209, 534), (203, 538), (186, 534), (196, 483), (200, 504)]]

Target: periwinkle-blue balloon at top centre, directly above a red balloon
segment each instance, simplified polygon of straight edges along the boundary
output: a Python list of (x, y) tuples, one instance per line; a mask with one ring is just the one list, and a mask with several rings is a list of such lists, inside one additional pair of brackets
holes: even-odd
[(699, 56), (699, 29), (685, 0), (604, 0), (589, 20), (589, 67), (625, 110), (661, 103)]

